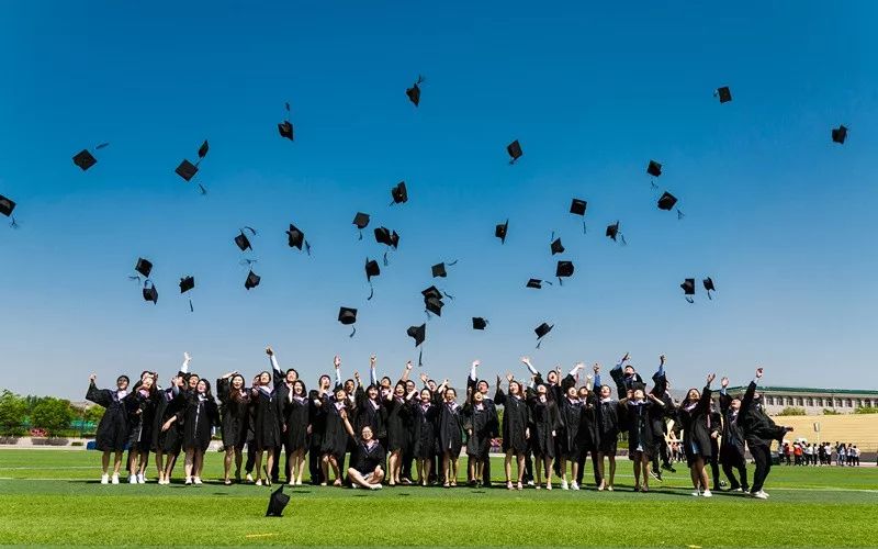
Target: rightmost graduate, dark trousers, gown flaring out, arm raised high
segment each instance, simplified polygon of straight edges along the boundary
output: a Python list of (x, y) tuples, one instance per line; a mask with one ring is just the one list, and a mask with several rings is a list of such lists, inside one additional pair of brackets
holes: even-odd
[(768, 494), (763, 490), (763, 484), (772, 470), (772, 440), (779, 442), (784, 439), (784, 435), (792, 432), (792, 427), (776, 425), (765, 413), (762, 406), (762, 395), (756, 392), (756, 384), (762, 379), (762, 374), (763, 369), (756, 368), (756, 377), (750, 382), (744, 397), (741, 399), (738, 424), (744, 434), (750, 455), (753, 456), (753, 461), (756, 463), (750, 494), (758, 500), (767, 500)]

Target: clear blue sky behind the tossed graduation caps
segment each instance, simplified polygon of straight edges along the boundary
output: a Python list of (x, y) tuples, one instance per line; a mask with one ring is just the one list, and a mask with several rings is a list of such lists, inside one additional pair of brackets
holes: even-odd
[[(211, 378), (256, 372), (267, 344), (312, 383), (336, 352), (346, 373), (376, 352), (395, 377), (417, 359), (405, 330), (426, 320), (430, 266), (459, 259), (440, 284), (457, 299), (428, 324), (437, 378), (631, 351), (648, 372), (665, 352), (678, 388), (762, 363), (770, 384), (875, 389), (878, 5), (8, 2), (0, 194), (22, 227), (0, 227), (0, 385), (81, 399), (92, 371), (167, 382), (183, 350)], [(277, 133), (284, 101), (295, 143)], [(173, 168), (205, 138), (200, 197)], [(101, 142), (97, 166), (72, 165)], [(655, 208), (651, 158), (683, 221)], [(389, 208), (403, 179), (409, 202)], [(617, 219), (627, 247), (603, 235)], [(286, 247), (291, 222), (312, 257)], [(243, 225), (259, 229), (250, 292)], [(402, 239), (367, 302), (378, 225)], [(576, 273), (527, 290), (554, 273), (552, 231)], [(157, 306), (126, 278), (138, 256)], [(678, 284), (703, 276), (718, 293), (689, 305)], [(353, 338), (340, 305), (360, 310)], [(555, 327), (534, 350), (541, 322)]]

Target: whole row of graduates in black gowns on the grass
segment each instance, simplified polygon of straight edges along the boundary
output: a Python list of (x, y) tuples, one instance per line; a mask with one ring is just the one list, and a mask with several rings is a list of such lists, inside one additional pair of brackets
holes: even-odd
[[(650, 477), (661, 480), (662, 469), (674, 470), (667, 439), (682, 432), (693, 495), (712, 495), (706, 466), (712, 467), (717, 490), (721, 463), (730, 490), (767, 498), (763, 484), (772, 466), (772, 440), (792, 430), (775, 425), (763, 410), (756, 391), (761, 368), (743, 395), (728, 394), (729, 380), (723, 378), (714, 401), (711, 373), (702, 390), (690, 389), (675, 403), (664, 356), (648, 391), (626, 354), (610, 370), (619, 399), (601, 383), (599, 365), (588, 374), (579, 362), (564, 376), (555, 368), (543, 377), (522, 357), (528, 373), (522, 379), (508, 373), (505, 391), (497, 376), (492, 397), (488, 382), (479, 377), (477, 360), (466, 377), (465, 393), (459, 396), (449, 380), (437, 383), (426, 373), (419, 376), (419, 388), (409, 379), (412, 362), (395, 383), (389, 377), (379, 379), (374, 356), (368, 385), (359, 372), (342, 381), (341, 360), (335, 357), (335, 380), (323, 374), (316, 389), (308, 390), (295, 369), (280, 368), (271, 347), (266, 352), (271, 371), (260, 372), (250, 386), (238, 372), (224, 374), (216, 382), (218, 403), (210, 382), (189, 371), (189, 355), (168, 389), (158, 386), (155, 372), (143, 372), (132, 391), (126, 376), (116, 380), (116, 389), (100, 390), (92, 374), (87, 399), (106, 408), (95, 437), (103, 452), (101, 482), (119, 483), (128, 449), (130, 483), (146, 482), (153, 452), (158, 483), (169, 484), (182, 451), (185, 484), (201, 484), (204, 452), (218, 427), (225, 484), (232, 484), (233, 472), (235, 482), (280, 482), (285, 455), (290, 485), (302, 484), (307, 456), (314, 484), (448, 488), (457, 485), (459, 459), (465, 453), (468, 483), (489, 486), (489, 452), (499, 446), (508, 490), (525, 485), (552, 490), (553, 473), (563, 490), (579, 490), (590, 453), (596, 489), (612, 491), (617, 445), (623, 435), (634, 463), (634, 491), (648, 492)], [(755, 462), (751, 485), (745, 447)]]

